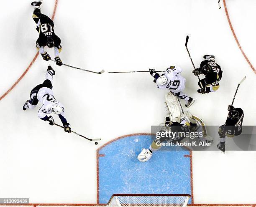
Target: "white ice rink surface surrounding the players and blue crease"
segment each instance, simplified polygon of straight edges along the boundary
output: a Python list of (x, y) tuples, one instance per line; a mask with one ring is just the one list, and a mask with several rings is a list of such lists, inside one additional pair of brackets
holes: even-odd
[[(38, 33), (30, 3), (3, 1), (0, 7), (0, 96), (36, 55)], [(246, 76), (234, 106), (244, 111), (243, 125), (256, 125), (256, 1), (225, 3), (251, 66), (230, 30), (222, 1), (220, 10), (217, 0), (44, 0), (41, 8), (51, 17), (57, 6), (54, 30), (61, 38), (63, 63), (94, 71), (182, 67), (185, 92), (196, 98), (189, 110), (207, 125), (225, 123), (227, 106)], [(196, 67), (203, 55), (212, 54), (223, 69), (216, 93), (196, 92), (197, 78), (184, 47), (186, 35)], [(46, 50), (53, 57), (53, 50)], [(102, 138), (96, 146), (38, 119), (40, 106), (22, 110), (31, 89), (44, 81), (48, 64), (39, 55), (17, 86), (0, 100), (0, 197), (29, 197), (32, 203), (95, 204), (97, 148), (126, 134), (150, 133), (151, 125), (164, 121), (168, 91), (156, 88), (148, 73), (98, 75), (52, 64), (54, 95), (64, 105), (72, 130)], [(255, 151), (225, 155), (193, 151), (192, 166), (194, 204), (256, 204)]]

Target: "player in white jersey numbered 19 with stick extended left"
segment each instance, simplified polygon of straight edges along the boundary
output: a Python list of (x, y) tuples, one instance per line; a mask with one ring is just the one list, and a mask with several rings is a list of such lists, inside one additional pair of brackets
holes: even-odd
[(179, 66), (171, 66), (160, 76), (155, 70), (149, 69), (149, 73), (155, 78), (154, 82), (157, 84), (157, 88), (169, 89), (175, 96), (187, 101), (185, 106), (188, 108), (195, 100), (183, 92), (186, 79), (179, 74), (181, 72), (182, 68)]

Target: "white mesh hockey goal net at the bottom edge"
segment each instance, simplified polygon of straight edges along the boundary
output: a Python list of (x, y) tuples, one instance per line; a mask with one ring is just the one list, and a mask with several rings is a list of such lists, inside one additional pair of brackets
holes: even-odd
[(113, 194), (107, 207), (186, 207), (189, 194)]

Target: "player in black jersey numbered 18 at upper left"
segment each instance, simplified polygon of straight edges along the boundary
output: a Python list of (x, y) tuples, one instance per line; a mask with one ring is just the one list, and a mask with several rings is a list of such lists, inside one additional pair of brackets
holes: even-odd
[(54, 33), (54, 22), (46, 15), (41, 13), (41, 1), (34, 1), (31, 3), (34, 6), (33, 20), (36, 22), (36, 30), (39, 33), (39, 38), (36, 40), (36, 48), (45, 61), (51, 60), (49, 54), (44, 51), (44, 47), (54, 47), (54, 60), (58, 66), (62, 65), (59, 54), (61, 52), (61, 40)]

